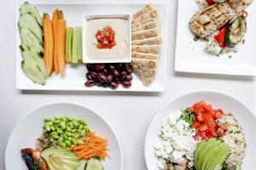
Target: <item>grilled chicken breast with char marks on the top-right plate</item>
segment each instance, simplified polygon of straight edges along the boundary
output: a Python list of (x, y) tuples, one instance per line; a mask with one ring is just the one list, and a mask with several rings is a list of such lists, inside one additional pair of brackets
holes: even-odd
[(243, 0), (227, 0), (195, 13), (189, 22), (190, 29), (199, 37), (206, 38), (241, 13), (247, 4)]

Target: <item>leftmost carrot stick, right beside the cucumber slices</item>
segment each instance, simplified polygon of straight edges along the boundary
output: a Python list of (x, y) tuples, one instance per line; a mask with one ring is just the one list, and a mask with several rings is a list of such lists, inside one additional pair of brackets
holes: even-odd
[(48, 75), (50, 75), (53, 68), (53, 53), (54, 53), (54, 35), (49, 14), (44, 14), (43, 19), (44, 31), (44, 62)]

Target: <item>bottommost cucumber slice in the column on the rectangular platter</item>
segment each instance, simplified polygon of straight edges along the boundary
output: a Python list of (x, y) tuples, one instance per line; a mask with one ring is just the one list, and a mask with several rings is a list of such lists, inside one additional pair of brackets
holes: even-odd
[(32, 82), (35, 82), (40, 85), (45, 84), (45, 78), (44, 74), (38, 67), (37, 62), (32, 59), (31, 57), (23, 59), (21, 62), (21, 68), (26, 74), (26, 77), (32, 80)]

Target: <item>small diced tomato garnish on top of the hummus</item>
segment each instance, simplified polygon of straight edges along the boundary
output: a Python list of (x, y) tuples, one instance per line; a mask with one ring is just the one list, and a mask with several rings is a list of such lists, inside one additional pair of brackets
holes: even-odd
[(116, 45), (116, 42), (114, 40), (115, 31), (110, 26), (106, 26), (103, 28), (102, 31), (96, 32), (96, 40), (98, 44), (96, 45), (97, 48), (113, 48), (113, 46)]

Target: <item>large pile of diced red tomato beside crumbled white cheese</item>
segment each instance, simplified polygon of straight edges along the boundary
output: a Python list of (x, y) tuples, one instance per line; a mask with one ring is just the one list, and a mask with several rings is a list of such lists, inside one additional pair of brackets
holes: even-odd
[(197, 130), (196, 140), (216, 138), (228, 130), (224, 124), (218, 125), (217, 123), (217, 120), (224, 115), (224, 111), (213, 109), (212, 105), (206, 105), (205, 101), (195, 103), (189, 108), (189, 111), (195, 114), (191, 127)]

